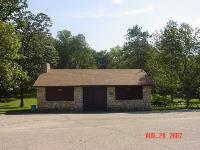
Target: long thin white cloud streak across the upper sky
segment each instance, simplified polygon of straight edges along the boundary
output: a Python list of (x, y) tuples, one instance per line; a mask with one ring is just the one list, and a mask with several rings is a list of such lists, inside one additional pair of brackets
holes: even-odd
[(134, 15), (139, 15), (143, 13), (150, 13), (152, 11), (154, 11), (154, 7), (152, 5), (148, 5), (141, 9), (126, 10), (126, 11), (119, 11), (119, 12), (109, 12), (106, 10), (104, 6), (101, 6), (94, 11), (82, 12), (80, 14), (68, 15), (68, 16), (76, 17), (76, 18), (123, 17), (123, 16), (134, 16)]

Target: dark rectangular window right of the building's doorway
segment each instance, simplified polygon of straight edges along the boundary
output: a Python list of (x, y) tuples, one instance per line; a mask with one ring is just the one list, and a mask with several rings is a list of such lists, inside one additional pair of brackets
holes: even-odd
[(142, 99), (142, 86), (116, 86), (116, 100), (135, 100)]

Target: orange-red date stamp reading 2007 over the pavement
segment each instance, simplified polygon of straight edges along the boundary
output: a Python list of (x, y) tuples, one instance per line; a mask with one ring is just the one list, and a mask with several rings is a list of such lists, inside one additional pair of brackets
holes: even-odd
[(171, 140), (180, 140), (183, 137), (182, 132), (170, 132), (170, 133), (165, 133), (165, 132), (160, 132), (160, 133), (155, 133), (155, 132), (147, 132), (146, 133), (146, 139), (151, 140), (151, 139), (171, 139)]

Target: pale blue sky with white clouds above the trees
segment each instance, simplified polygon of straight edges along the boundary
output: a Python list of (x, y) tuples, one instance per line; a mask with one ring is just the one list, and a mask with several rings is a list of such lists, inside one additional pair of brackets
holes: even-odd
[(29, 10), (51, 17), (51, 33), (69, 30), (86, 37), (91, 48), (109, 50), (125, 42), (134, 25), (153, 33), (168, 20), (200, 27), (199, 0), (28, 0)]

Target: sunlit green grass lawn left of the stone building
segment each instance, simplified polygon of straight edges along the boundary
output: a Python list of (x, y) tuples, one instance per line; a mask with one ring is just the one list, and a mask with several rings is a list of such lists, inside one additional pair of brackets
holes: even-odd
[(29, 112), (31, 105), (36, 105), (36, 98), (25, 98), (24, 107), (19, 107), (20, 100), (11, 98), (9, 102), (0, 102), (0, 114), (9, 112)]

